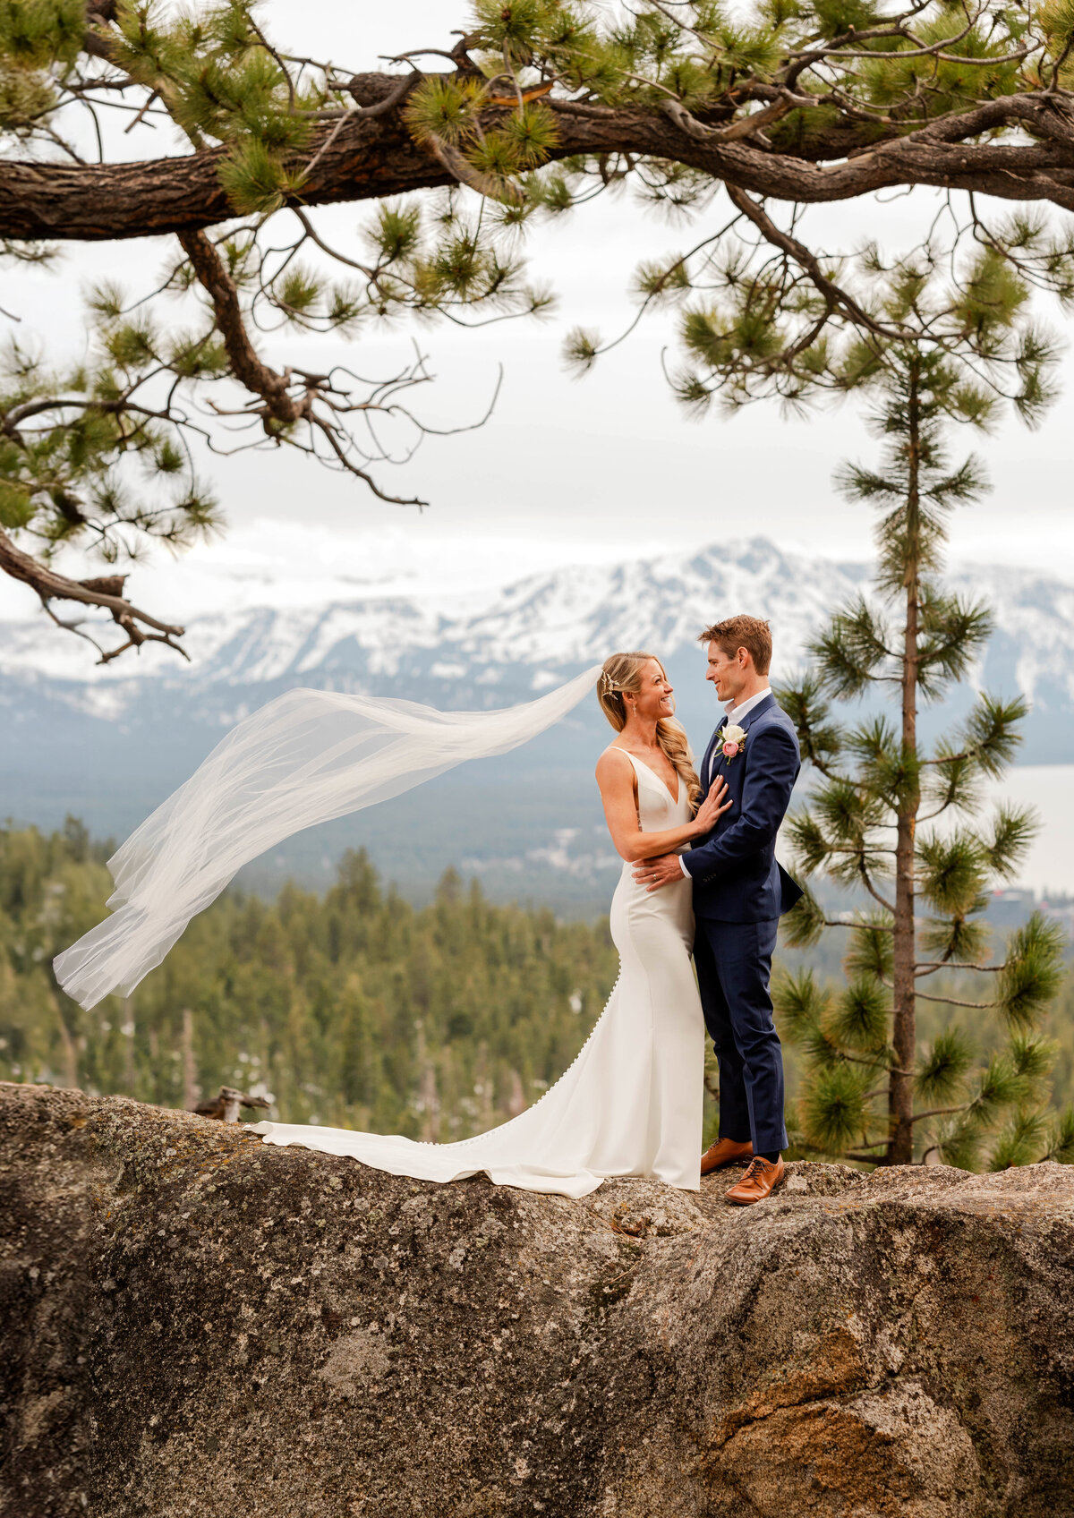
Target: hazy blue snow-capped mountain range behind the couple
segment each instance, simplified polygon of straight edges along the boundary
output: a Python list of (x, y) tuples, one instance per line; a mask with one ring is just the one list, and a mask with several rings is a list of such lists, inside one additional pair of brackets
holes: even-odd
[[(408, 598), (376, 587), (305, 609), (272, 606), (197, 618), (190, 663), (158, 645), (99, 666), (88, 644), (44, 618), (0, 624), (0, 815), (52, 826), (67, 812), (123, 836), (241, 716), (308, 685), (448, 709), (513, 706), (616, 648), (658, 653), (695, 745), (714, 721), (698, 631), (749, 610), (769, 618), (774, 677), (801, 665), (824, 616), (865, 589), (868, 565), (784, 551), (768, 539), (611, 566), (522, 575), (470, 594)], [(925, 713), (957, 720), (974, 686), (1033, 703), (1022, 762), (1074, 761), (1074, 584), (1003, 566), (951, 574), (983, 597), (995, 631), (974, 682)], [(369, 847), (408, 894), (449, 864), (495, 896), (569, 908), (607, 897), (617, 861), (592, 779), (610, 732), (596, 701), (496, 761), (452, 771), (396, 802), (297, 835), (244, 880), (331, 879), (344, 847)]]

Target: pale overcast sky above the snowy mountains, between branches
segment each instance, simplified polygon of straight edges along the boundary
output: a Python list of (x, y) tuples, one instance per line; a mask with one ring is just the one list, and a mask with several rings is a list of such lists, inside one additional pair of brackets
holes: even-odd
[[(293, 49), (331, 56), (343, 67), (372, 68), (378, 55), (407, 47), (451, 47), (452, 27), (466, 24), (454, 0), (270, 0), (264, 20)], [(435, 61), (431, 61), (435, 65)], [(147, 149), (146, 149), (147, 150)], [(718, 225), (719, 202), (698, 226)], [(370, 209), (326, 208), (319, 225), (343, 246)], [(906, 246), (930, 216), (930, 196), (916, 191), (886, 205), (868, 202), (810, 213), (806, 234), (827, 247), (875, 235)], [(664, 319), (608, 354), (583, 381), (563, 369), (564, 332), (576, 325), (605, 335), (630, 317), (631, 270), (645, 257), (698, 240), (696, 228), (669, 226), (630, 196), (583, 206), (555, 226), (528, 234), (535, 279), (558, 294), (545, 322), (511, 322), (479, 332), (444, 325), (410, 332), (397, 328), (344, 343), (290, 343), (287, 354), (312, 363), (346, 361), (363, 373), (384, 373), (404, 361), (417, 335), (437, 384), (416, 401), (435, 425), (472, 420), (495, 387), (504, 386), (491, 420), (479, 431), (431, 437), (416, 458), (382, 481), (405, 495), (426, 496), (425, 513), (376, 502), (360, 483), (288, 455), (246, 455), (211, 461), (231, 533), (197, 550), (185, 566), (140, 571), (130, 589), (173, 603), (191, 615), (232, 594), (221, 586), (252, 577), (247, 600), (317, 600), (363, 580), (461, 589), (531, 568), (579, 559), (614, 559), (651, 551), (766, 534), (778, 542), (833, 556), (869, 550), (869, 515), (848, 507), (831, 489), (846, 455), (869, 457), (875, 445), (857, 411), (843, 407), (807, 420), (786, 420), (772, 405), (733, 419), (713, 413), (701, 424), (675, 405), (660, 370), (674, 340)], [(164, 263), (164, 243), (71, 249), (59, 273), (6, 273), (0, 304), (23, 317), (20, 335), (36, 332), (74, 352), (83, 340), (80, 288), (109, 273), (132, 287)], [(1054, 311), (1048, 313), (1059, 323)], [(284, 348), (268, 345), (279, 360)], [(1012, 562), (1074, 575), (1074, 518), (1069, 460), (1074, 431), (1074, 357), (1065, 363), (1065, 392), (1038, 433), (1009, 420), (975, 443), (995, 490), (954, 524), (960, 559)], [(957, 442), (957, 440), (956, 440)], [(969, 443), (966, 443), (969, 446)], [(162, 598), (162, 600), (161, 600)], [(26, 615), (32, 597), (0, 583), (0, 615)]]

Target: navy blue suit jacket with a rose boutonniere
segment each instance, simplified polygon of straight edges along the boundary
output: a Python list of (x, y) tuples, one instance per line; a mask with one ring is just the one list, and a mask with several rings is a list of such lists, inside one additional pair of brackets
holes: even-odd
[(765, 923), (789, 912), (801, 887), (775, 858), (775, 835), (790, 805), (801, 770), (798, 735), (774, 695), (765, 697), (739, 726), (746, 739), (727, 759), (716, 727), (701, 765), (704, 794), (727, 780), (734, 803), (701, 842), (683, 855), (693, 879), (693, 914), (724, 923)]

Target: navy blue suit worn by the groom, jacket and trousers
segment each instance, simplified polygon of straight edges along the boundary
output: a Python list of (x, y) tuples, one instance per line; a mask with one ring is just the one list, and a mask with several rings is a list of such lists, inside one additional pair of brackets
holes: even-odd
[[(724, 718), (727, 723), (727, 718)], [(801, 770), (787, 713), (766, 695), (739, 726), (746, 739), (727, 759), (721, 723), (701, 765), (705, 794), (727, 780), (731, 809), (683, 855), (693, 879), (693, 962), (719, 1061), (719, 1135), (754, 1154), (786, 1149), (783, 1053), (772, 1022), (772, 950), (783, 912), (801, 888), (775, 858), (775, 835)]]

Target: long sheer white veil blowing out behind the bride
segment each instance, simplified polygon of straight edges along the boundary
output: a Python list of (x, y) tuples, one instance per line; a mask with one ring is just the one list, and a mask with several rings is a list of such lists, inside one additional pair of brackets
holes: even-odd
[(129, 996), (235, 871), (316, 823), (400, 795), (466, 759), (517, 748), (593, 688), (599, 666), (537, 701), (438, 712), (335, 691), (288, 691), (244, 718), (108, 861), (112, 915), (56, 955), (82, 1006)]

